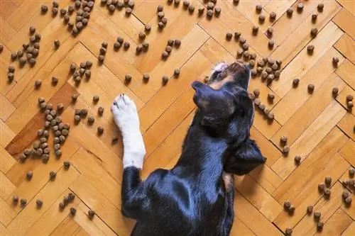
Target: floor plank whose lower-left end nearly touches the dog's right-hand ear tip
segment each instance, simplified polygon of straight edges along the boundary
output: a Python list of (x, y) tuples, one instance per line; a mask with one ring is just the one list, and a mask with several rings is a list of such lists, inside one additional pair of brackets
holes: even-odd
[(330, 130), (336, 125), (339, 120), (345, 115), (344, 108), (332, 101), (329, 106), (322, 111), (310, 126), (305, 130), (302, 135), (295, 140), (293, 145), (290, 146), (288, 157), (281, 156), (275, 164), (271, 167), (276, 174), (282, 179), (286, 179), (291, 172), (293, 172), (297, 165), (295, 164), (294, 157), (296, 154), (301, 155), (302, 160), (307, 159), (307, 155), (315, 148), (323, 137), (329, 133)]

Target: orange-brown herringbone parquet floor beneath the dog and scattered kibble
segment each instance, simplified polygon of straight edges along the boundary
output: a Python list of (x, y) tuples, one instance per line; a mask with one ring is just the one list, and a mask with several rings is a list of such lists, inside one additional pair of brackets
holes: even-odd
[[(122, 1), (122, 0), (119, 0)], [(84, 1), (82, 1), (84, 2)], [(256, 54), (256, 62), (268, 57), (281, 60), (281, 74), (271, 84), (266, 84), (258, 74), (250, 83), (250, 93), (260, 91), (259, 99), (275, 114), (273, 121), (256, 108), (251, 135), (268, 157), (264, 167), (254, 170), (236, 181), (236, 218), (231, 235), (283, 235), (286, 228), (293, 235), (355, 235), (355, 207), (346, 206), (343, 191), (354, 187), (343, 181), (351, 178), (349, 168), (355, 166), (354, 110), (349, 109), (346, 96), (355, 96), (355, 2), (354, 0), (309, 0), (302, 12), (297, 11), (300, 1), (295, 0), (218, 0), (220, 16), (207, 18), (207, 9), (199, 16), (198, 9), (206, 2), (190, 1), (195, 12), (164, 0), (138, 0), (131, 16), (125, 10), (109, 13), (100, 1), (94, 1), (89, 23), (76, 36), (70, 34), (58, 12), (52, 14), (52, 1), (0, 0), (0, 232), (1, 235), (129, 235), (133, 221), (121, 215), (121, 140), (112, 143), (113, 137), (121, 138), (111, 117), (110, 104), (117, 94), (129, 94), (136, 102), (141, 118), (141, 130), (146, 143), (146, 160), (143, 177), (158, 167), (173, 167), (179, 157), (181, 143), (192, 120), (195, 109), (192, 102), (192, 81), (203, 81), (216, 62), (234, 62), (241, 48), (238, 41), (226, 40), (226, 33), (240, 32), (249, 44), (249, 52)], [(48, 13), (41, 14), (45, 3)], [(323, 11), (317, 5), (323, 3)], [(59, 1), (59, 9), (74, 1)], [(157, 6), (164, 6), (168, 23), (158, 30)], [(256, 4), (263, 7), (266, 16), (258, 22)], [(292, 17), (286, 11), (293, 9)], [(269, 15), (276, 14), (275, 21)], [(312, 22), (312, 13), (317, 21)], [(70, 21), (75, 21), (72, 13)], [(144, 41), (149, 43), (148, 52), (136, 55), (136, 47), (142, 41), (138, 35), (145, 24), (151, 25)], [(19, 67), (18, 60), (11, 62), (11, 52), (21, 49), (30, 38), (28, 28), (35, 26), (40, 33), (40, 50), (36, 64)], [(253, 26), (258, 34), (253, 35)], [(266, 31), (273, 28), (273, 34)], [(317, 28), (315, 38), (310, 30)], [(114, 50), (117, 37), (130, 43), (128, 50)], [(268, 47), (271, 37), (274, 47)], [(180, 47), (173, 47), (167, 60), (161, 55), (168, 39), (181, 40)], [(54, 40), (60, 40), (55, 48)], [(104, 63), (97, 60), (103, 41), (108, 42)], [(312, 55), (307, 46), (314, 45)], [(24, 56), (26, 57), (26, 55)], [(332, 58), (338, 57), (337, 66)], [(91, 78), (75, 84), (70, 64), (93, 62)], [(7, 79), (8, 67), (13, 65), (14, 80)], [(173, 77), (174, 69), (180, 68), (180, 76)], [(254, 67), (255, 69), (256, 67)], [(143, 74), (150, 74), (148, 83)], [(131, 83), (126, 85), (125, 76), (130, 74)], [(162, 77), (168, 76), (163, 86)], [(58, 84), (52, 84), (52, 77)], [(293, 87), (293, 79), (300, 84)], [(41, 80), (39, 88), (35, 81)], [(308, 84), (315, 89), (310, 93)], [(332, 89), (339, 95), (334, 98)], [(80, 94), (72, 103), (72, 94)], [(273, 101), (268, 99), (273, 94)], [(92, 97), (99, 96), (93, 103)], [(60, 147), (62, 156), (55, 158), (54, 135), (48, 138), (50, 159), (29, 157), (20, 162), (19, 157), (27, 148), (32, 149), (38, 140), (37, 130), (45, 125), (45, 115), (38, 108), (38, 97), (56, 108), (62, 103), (62, 122), (70, 124), (70, 133)], [(99, 106), (103, 116), (97, 115)], [(75, 109), (87, 108), (93, 116), (92, 125), (82, 118), (75, 125)], [(104, 128), (97, 135), (97, 127)], [(288, 136), (288, 155), (283, 155), (280, 137)], [(294, 157), (302, 157), (295, 164)], [(69, 161), (69, 169), (63, 162)], [(30, 181), (26, 173), (33, 172)], [(53, 181), (50, 171), (56, 172)], [(331, 195), (324, 198), (318, 184), (326, 176), (332, 177)], [(350, 181), (351, 182), (351, 181)], [(352, 181), (351, 184), (354, 184)], [(64, 210), (59, 203), (69, 193), (75, 199)], [(13, 196), (26, 199), (26, 206), (13, 204)], [(36, 207), (38, 199), (43, 201)], [(284, 210), (285, 201), (295, 206), (293, 214)], [(307, 215), (307, 206), (322, 213), (322, 232), (317, 232), (313, 215)], [(70, 208), (76, 214), (70, 215)], [(87, 212), (92, 209), (92, 220)]]

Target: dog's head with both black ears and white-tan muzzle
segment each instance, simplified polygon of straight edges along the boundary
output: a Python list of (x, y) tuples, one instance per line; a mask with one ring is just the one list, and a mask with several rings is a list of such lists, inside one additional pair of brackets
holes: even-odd
[(254, 115), (247, 92), (249, 79), (249, 67), (235, 62), (218, 64), (207, 84), (192, 83), (198, 108), (195, 122), (209, 135), (226, 140), (224, 170), (238, 175), (247, 174), (266, 161), (249, 138)]

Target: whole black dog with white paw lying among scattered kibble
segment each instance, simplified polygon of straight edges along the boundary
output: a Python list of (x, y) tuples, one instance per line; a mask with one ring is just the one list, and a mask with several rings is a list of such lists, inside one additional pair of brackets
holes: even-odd
[(217, 64), (207, 84), (193, 82), (197, 109), (173, 169), (156, 169), (144, 181), (146, 149), (134, 102), (121, 94), (111, 112), (124, 143), (121, 211), (136, 220), (133, 236), (225, 236), (234, 220), (233, 174), (266, 162), (250, 139), (253, 103), (250, 69)]

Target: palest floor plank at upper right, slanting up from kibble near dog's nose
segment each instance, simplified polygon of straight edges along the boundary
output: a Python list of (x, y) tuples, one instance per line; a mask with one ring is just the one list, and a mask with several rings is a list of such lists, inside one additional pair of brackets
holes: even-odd
[[(327, 26), (324, 26), (320, 33), (318, 33), (317, 37), (308, 43), (308, 45), (315, 46), (315, 52), (313, 52), (313, 55), (308, 55), (307, 47), (303, 47), (300, 54), (297, 55), (295, 59), (285, 67), (285, 69), (283, 69), (280, 79), (273, 81), (270, 85), (275, 94), (278, 94), (280, 97), (285, 96), (285, 94), (293, 88), (293, 79), (302, 78), (343, 34), (342, 30), (334, 25), (334, 23), (327, 23)], [(273, 55), (273, 58), (279, 57)], [(285, 63), (287, 64), (288, 62)], [(332, 63), (330, 58), (329, 63)]]

